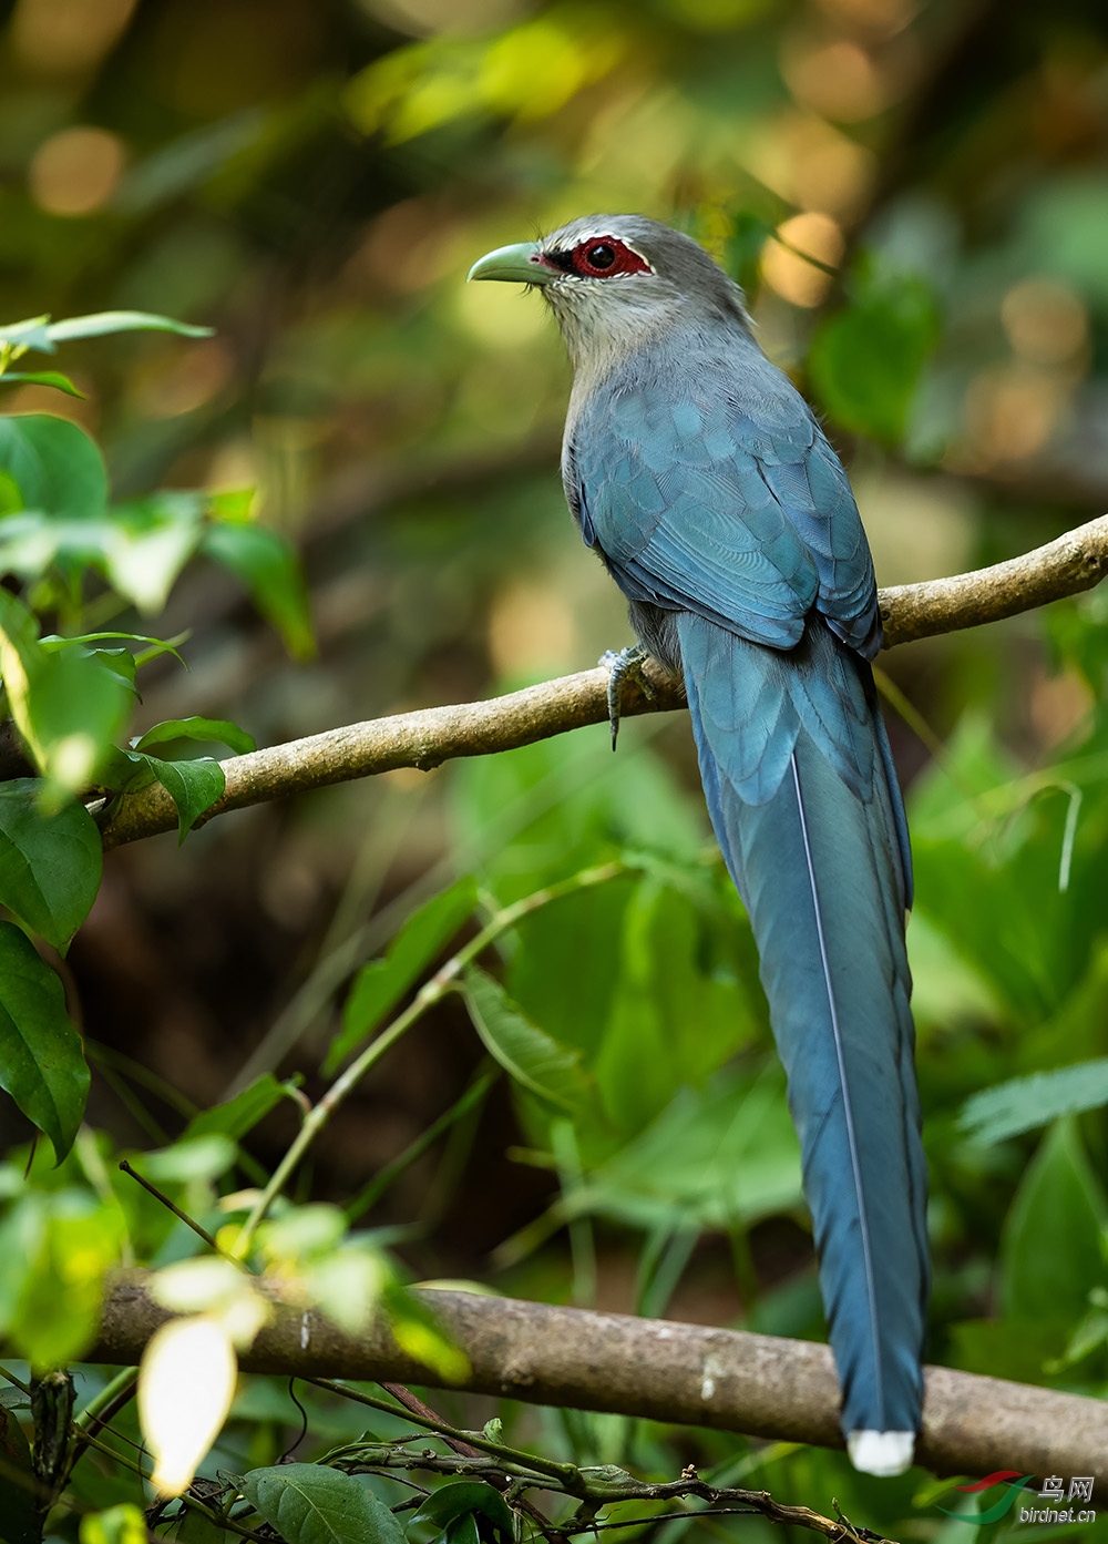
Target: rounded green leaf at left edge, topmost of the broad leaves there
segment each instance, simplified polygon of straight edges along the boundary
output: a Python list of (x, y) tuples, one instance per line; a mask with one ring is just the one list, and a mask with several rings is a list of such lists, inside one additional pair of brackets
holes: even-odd
[(49, 414), (0, 418), (0, 471), (19, 488), (23, 508), (88, 519), (108, 503), (108, 474), (96, 442)]

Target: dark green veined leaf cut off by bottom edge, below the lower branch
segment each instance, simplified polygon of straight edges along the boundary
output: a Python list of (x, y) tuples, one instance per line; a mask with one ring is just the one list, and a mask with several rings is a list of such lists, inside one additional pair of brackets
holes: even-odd
[(242, 1493), (287, 1544), (404, 1544), (384, 1502), (335, 1468), (253, 1468), (242, 1476)]

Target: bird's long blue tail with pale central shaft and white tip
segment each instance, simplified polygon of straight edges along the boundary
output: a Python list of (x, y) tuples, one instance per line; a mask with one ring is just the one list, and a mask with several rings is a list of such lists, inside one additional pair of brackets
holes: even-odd
[(910, 1439), (870, 1434), (920, 1428), (927, 1177), (910, 855), (872, 673), (819, 618), (789, 653), (690, 613), (677, 628), (704, 791), (789, 1075), (843, 1431), (858, 1467), (898, 1471)]

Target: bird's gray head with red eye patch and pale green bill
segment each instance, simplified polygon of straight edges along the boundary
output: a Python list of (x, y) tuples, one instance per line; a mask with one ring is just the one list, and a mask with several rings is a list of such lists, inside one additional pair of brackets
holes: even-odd
[(498, 247), (469, 278), (535, 286), (577, 369), (596, 369), (682, 324), (747, 324), (742, 290), (708, 253), (639, 215), (586, 215), (540, 241)]

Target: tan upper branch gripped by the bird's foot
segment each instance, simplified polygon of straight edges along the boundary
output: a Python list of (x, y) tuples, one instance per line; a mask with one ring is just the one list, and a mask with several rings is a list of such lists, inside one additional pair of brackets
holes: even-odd
[[(1017, 611), (1029, 611), (1066, 594), (1091, 590), (1108, 574), (1108, 516), (1066, 531), (1046, 547), (991, 568), (881, 590), (884, 644), (892, 648), (918, 638), (980, 627)], [(684, 696), (657, 667), (647, 670), (653, 698), (628, 682), (623, 716), (681, 707)], [(514, 750), (608, 716), (606, 669), (545, 681), (486, 703), (432, 707), (395, 718), (347, 724), (284, 746), (231, 757), (222, 763), (222, 798), (198, 821), (247, 804), (261, 804), (306, 789), (418, 767), (429, 772), (455, 757)], [(119, 801), (102, 824), (105, 848), (173, 831), (177, 811), (159, 784)]]

